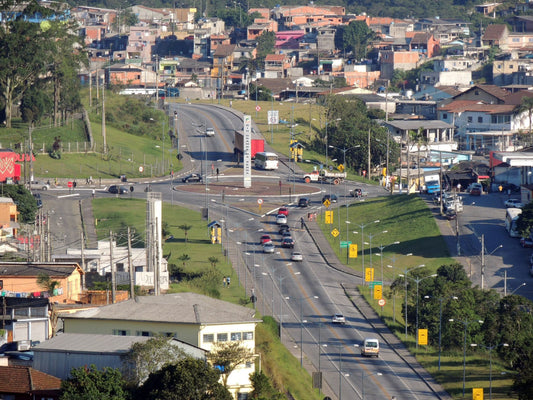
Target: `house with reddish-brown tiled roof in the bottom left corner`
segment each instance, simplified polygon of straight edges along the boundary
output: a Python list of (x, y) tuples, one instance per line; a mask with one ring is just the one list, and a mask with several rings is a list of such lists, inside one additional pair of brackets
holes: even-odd
[(61, 379), (30, 367), (0, 366), (0, 399), (59, 400)]

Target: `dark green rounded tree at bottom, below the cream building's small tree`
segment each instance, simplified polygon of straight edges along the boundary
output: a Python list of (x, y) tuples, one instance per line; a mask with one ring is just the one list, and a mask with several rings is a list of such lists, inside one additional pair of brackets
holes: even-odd
[(137, 390), (139, 400), (231, 400), (220, 373), (205, 361), (186, 357), (150, 374)]

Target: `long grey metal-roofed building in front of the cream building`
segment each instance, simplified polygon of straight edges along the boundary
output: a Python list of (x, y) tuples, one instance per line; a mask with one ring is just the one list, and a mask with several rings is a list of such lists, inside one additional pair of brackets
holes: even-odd
[[(70, 378), (73, 368), (94, 365), (119, 369), (126, 375), (135, 366), (124, 363), (123, 357), (135, 343), (150, 340), (148, 336), (117, 336), (84, 333), (62, 333), (32, 347), (33, 368), (60, 379)], [(187, 355), (206, 359), (206, 350), (169, 338), (170, 343)]]

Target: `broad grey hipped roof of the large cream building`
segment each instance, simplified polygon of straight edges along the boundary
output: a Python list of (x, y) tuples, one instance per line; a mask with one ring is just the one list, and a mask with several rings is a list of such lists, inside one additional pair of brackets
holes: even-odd
[(65, 315), (64, 319), (149, 321), (182, 324), (260, 322), (255, 311), (196, 293), (140, 296), (116, 304)]

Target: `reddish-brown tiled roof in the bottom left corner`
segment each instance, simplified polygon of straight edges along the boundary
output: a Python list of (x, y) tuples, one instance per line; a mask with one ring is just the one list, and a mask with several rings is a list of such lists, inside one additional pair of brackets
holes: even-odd
[(31, 393), (60, 387), (61, 379), (33, 368), (0, 366), (0, 393)]

